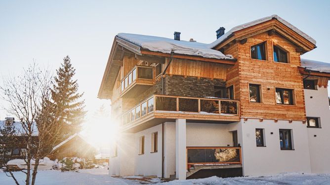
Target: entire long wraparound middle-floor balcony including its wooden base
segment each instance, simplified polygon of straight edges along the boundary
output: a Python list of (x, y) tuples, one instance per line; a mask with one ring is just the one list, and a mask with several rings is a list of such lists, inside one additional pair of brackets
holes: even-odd
[(124, 130), (140, 131), (151, 126), (186, 119), (196, 123), (240, 121), (239, 101), (217, 98), (153, 95), (120, 116)]

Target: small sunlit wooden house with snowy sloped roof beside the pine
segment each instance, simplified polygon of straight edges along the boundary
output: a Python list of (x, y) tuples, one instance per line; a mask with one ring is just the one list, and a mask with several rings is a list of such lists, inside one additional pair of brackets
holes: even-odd
[(83, 136), (75, 133), (68, 139), (53, 148), (49, 158), (51, 160), (63, 159), (64, 157), (79, 157), (94, 159), (96, 149), (83, 139)]

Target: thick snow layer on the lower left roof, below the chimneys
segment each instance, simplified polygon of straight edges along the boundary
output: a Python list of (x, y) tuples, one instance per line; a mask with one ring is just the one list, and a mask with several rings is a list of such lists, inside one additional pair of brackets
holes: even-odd
[(210, 49), (208, 44), (200, 42), (190, 42), (184, 40), (174, 40), (159, 36), (149, 36), (131, 33), (118, 33), (118, 37), (134, 43), (150, 51), (170, 54), (172, 51), (176, 54), (200, 56), (213, 59), (233, 59), (232, 56), (225, 56), (220, 51)]

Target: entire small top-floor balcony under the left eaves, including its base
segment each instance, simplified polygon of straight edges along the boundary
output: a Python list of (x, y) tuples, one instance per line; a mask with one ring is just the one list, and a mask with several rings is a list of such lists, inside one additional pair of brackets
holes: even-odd
[[(155, 67), (136, 65), (121, 80), (122, 96), (134, 96), (132, 92), (141, 92), (154, 85)], [(132, 91), (130, 91), (132, 90)]]

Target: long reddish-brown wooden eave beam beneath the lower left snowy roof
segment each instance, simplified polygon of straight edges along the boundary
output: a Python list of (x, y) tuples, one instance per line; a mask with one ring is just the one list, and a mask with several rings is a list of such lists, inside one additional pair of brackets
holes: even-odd
[[(162, 56), (162, 57), (171, 57), (171, 54), (161, 53), (161, 52), (154, 52), (154, 51), (146, 51), (146, 50), (142, 50), (141, 54), (155, 55), (155, 56)], [(193, 57), (193, 56), (187, 56), (187, 55), (177, 55), (177, 54), (174, 54), (173, 58), (196, 60), (196, 61), (205, 61), (205, 62), (225, 63), (225, 64), (230, 64), (230, 65), (234, 65), (236, 63), (236, 60), (210, 59), (210, 58)]]

